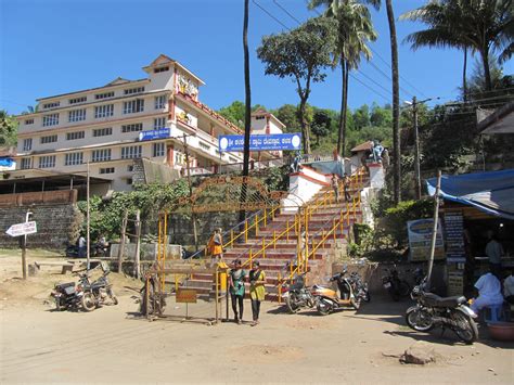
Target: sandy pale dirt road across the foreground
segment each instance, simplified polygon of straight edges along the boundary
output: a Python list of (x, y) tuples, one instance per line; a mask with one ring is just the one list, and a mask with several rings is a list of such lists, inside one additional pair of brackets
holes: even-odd
[[(3, 300), (16, 282), (0, 284), (2, 384), (514, 382), (512, 345), (481, 339), (466, 346), (451, 332), (414, 333), (402, 319), (408, 303), (373, 298), (359, 312), (327, 317), (265, 304), (258, 326), (208, 326), (136, 319), (138, 305), (121, 287), (118, 306), (90, 313), (55, 312), (34, 296)], [(168, 308), (184, 311), (183, 305)], [(416, 341), (435, 347), (436, 363), (407, 365), (390, 357)]]

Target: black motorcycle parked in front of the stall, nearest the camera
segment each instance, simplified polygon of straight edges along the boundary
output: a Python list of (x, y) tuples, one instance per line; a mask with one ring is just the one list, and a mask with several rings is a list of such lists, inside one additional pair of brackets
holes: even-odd
[(439, 297), (425, 292), (426, 279), (412, 290), (411, 297), (417, 304), (406, 312), (409, 328), (417, 332), (428, 332), (435, 326), (452, 330), (466, 344), (473, 344), (478, 338), (475, 322), (477, 315), (466, 306), (463, 296)]

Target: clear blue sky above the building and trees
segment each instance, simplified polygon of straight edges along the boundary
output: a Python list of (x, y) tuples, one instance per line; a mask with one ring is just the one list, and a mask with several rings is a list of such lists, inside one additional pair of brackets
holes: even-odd
[[(252, 102), (268, 107), (296, 104), (294, 84), (265, 76), (256, 56), (264, 35), (285, 29), (256, 3), (290, 28), (297, 22), (279, 5), (299, 21), (316, 13), (307, 11), (305, 0), (250, 0)], [(394, 3), (399, 16), (424, 1)], [(206, 86), (200, 97), (211, 107), (244, 99), (243, 0), (0, 0), (0, 108), (10, 113), (35, 105), (37, 98), (99, 87), (118, 76), (143, 78), (141, 67), (159, 53), (204, 79)], [(390, 76), (385, 7), (372, 15), (378, 33), (378, 40), (372, 44), (374, 66), (363, 62), (355, 76), (373, 90), (350, 79), (351, 107), (390, 100), (390, 80), (383, 74)], [(400, 98), (416, 94), (421, 99), (452, 100), (461, 81), (462, 53), (429, 49), (412, 52), (402, 39), (420, 27), (397, 23)], [(512, 63), (505, 72), (513, 72)], [(325, 82), (313, 87), (309, 102), (338, 110), (340, 74), (327, 73)]]

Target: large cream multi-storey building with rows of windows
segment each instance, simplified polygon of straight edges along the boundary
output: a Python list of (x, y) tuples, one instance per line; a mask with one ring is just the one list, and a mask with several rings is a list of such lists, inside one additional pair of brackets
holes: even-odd
[[(110, 180), (112, 190), (130, 190), (133, 158), (180, 170), (184, 141), (195, 171), (243, 161), (241, 153), (219, 152), (218, 136), (243, 132), (198, 101), (202, 79), (163, 54), (143, 69), (144, 79), (117, 78), (104, 87), (42, 98), (37, 112), (17, 116), (17, 170), (12, 177), (83, 175), (89, 163), (91, 177)], [(266, 112), (252, 118), (253, 133), (284, 128)]]

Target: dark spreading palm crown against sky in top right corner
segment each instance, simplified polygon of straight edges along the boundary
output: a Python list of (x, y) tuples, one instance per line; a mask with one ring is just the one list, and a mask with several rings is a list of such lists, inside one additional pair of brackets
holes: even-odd
[[(467, 50), (478, 52), (488, 91), (492, 89), (490, 55), (494, 51), (499, 52), (500, 63), (512, 56), (512, 0), (432, 0), (404, 13), (401, 18), (427, 25), (427, 29), (407, 36), (406, 41), (411, 43), (413, 50), (427, 46), (458, 48), (464, 50), (465, 54)], [(465, 92), (465, 84), (463, 86)]]

